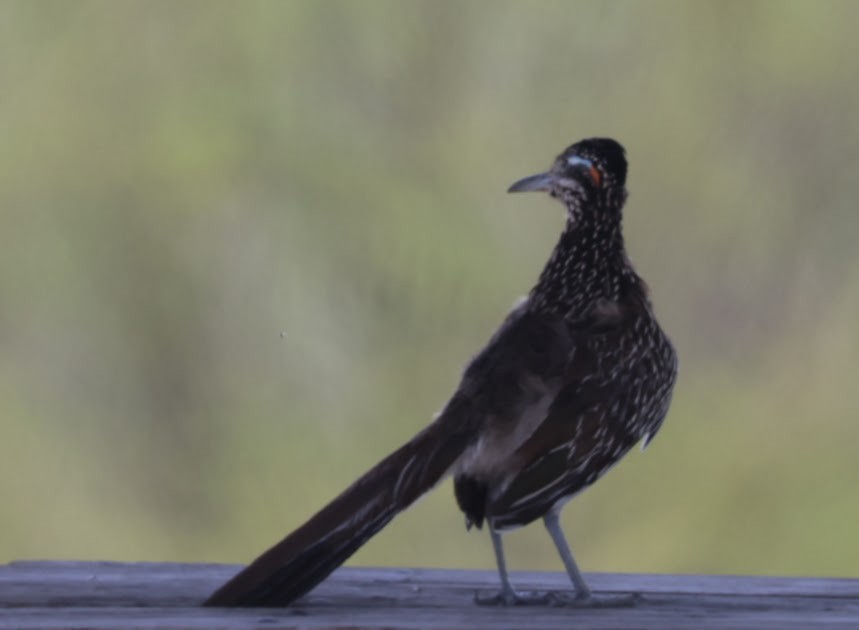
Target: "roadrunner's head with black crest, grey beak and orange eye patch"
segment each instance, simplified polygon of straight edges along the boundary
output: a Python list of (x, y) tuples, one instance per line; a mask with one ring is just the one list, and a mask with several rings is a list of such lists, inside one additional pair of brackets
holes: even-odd
[(508, 192), (545, 191), (578, 220), (586, 208), (618, 211), (626, 199), (626, 157), (611, 138), (588, 138), (568, 147), (545, 173), (513, 184)]

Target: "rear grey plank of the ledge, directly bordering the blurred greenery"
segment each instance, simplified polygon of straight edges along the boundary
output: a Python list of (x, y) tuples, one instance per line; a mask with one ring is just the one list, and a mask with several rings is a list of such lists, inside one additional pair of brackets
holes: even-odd
[[(58, 598), (54, 605), (194, 605), (240, 568), (158, 562), (12, 562), (0, 565), (0, 606), (52, 605), (52, 597)], [(522, 589), (569, 587), (559, 572), (521, 571), (513, 578)], [(596, 590), (607, 592), (859, 598), (859, 579), (849, 578), (622, 573), (590, 573), (587, 578)], [(433, 593), (493, 589), (497, 581), (494, 571), (343, 567), (306, 599), (354, 594), (413, 597), (424, 589)]]

